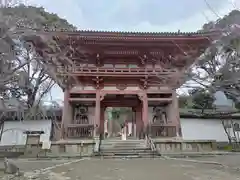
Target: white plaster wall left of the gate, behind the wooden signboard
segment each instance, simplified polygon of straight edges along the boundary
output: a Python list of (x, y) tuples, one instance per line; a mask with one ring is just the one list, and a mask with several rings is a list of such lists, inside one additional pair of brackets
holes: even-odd
[(49, 140), (51, 130), (51, 120), (4, 122), (0, 145), (24, 145), (27, 140), (24, 131), (44, 131), (44, 134), (40, 136), (40, 141)]

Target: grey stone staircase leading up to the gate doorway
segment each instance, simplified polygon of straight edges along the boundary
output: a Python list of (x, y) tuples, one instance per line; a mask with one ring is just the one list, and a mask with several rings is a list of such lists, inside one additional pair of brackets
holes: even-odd
[(102, 141), (99, 155), (104, 158), (146, 158), (157, 156), (157, 153), (148, 147), (145, 140), (107, 139)]

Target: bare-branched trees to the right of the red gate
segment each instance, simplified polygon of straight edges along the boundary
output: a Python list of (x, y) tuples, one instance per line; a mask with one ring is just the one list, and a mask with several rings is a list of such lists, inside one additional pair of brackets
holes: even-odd
[[(211, 8), (212, 11), (214, 11)], [(217, 14), (217, 12), (214, 12)], [(218, 30), (221, 36), (212, 43), (204, 52), (196, 64), (188, 72), (187, 87), (195, 83), (214, 94), (223, 92), (228, 99), (235, 103), (240, 101), (240, 11), (233, 10), (228, 15), (216, 22), (209, 22), (203, 26), (202, 31)], [(232, 120), (224, 120), (224, 117), (238, 113), (239, 110), (231, 112), (219, 112), (212, 110), (210, 113), (222, 118), (223, 128), (228, 136), (229, 142), (236, 141), (236, 128)], [(210, 115), (205, 114), (205, 115)], [(234, 137), (234, 138), (233, 138)]]

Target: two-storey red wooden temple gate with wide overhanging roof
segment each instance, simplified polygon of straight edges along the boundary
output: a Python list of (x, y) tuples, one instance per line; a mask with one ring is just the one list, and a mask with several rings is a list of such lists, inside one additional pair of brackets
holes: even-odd
[(215, 35), (38, 32), (27, 40), (64, 90), (63, 138), (103, 133), (106, 107), (132, 107), (138, 135), (172, 137), (181, 136), (175, 90)]

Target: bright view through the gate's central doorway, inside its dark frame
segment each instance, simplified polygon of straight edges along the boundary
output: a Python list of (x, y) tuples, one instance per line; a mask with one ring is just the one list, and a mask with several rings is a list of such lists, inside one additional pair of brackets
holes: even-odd
[(104, 113), (104, 137), (126, 140), (136, 138), (136, 119), (131, 107), (107, 107)]

